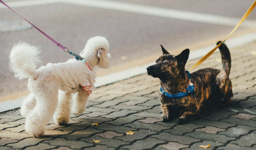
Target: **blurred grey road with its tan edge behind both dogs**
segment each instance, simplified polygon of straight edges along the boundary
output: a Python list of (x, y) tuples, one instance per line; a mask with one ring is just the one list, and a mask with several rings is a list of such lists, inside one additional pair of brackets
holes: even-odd
[[(253, 0), (5, 0), (20, 15), (45, 31), (70, 51), (80, 53), (93, 36), (108, 39), (111, 68), (98, 76), (142, 66), (161, 55), (160, 44), (176, 55), (215, 44), (234, 28)], [(65, 62), (63, 52), (36, 29), (0, 3), (0, 101), (27, 93), (27, 79), (9, 70), (13, 44), (25, 41), (40, 47), (42, 65)], [(10, 31), (11, 27), (12, 30)], [(230, 37), (256, 30), (256, 11)], [(2, 30), (1, 30), (2, 29)], [(5, 30), (4, 30), (5, 29)], [(9, 31), (8, 31), (9, 29)], [(4, 97), (4, 98), (3, 98)]]

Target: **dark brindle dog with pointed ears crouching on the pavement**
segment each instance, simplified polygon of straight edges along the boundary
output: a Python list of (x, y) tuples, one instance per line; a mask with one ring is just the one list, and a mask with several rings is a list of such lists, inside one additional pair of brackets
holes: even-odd
[[(217, 45), (221, 41), (217, 42)], [(186, 92), (188, 87), (188, 74), (185, 65), (189, 55), (189, 49), (185, 49), (179, 55), (170, 55), (161, 45), (163, 55), (156, 60), (156, 64), (147, 67), (148, 75), (159, 78), (160, 84), (167, 93), (176, 94)], [(231, 57), (227, 46), (222, 43), (219, 47), (223, 69), (204, 68), (191, 73), (191, 82), (194, 84), (194, 94), (183, 98), (169, 98), (164, 94), (160, 95), (161, 120), (168, 122), (178, 114), (177, 124), (185, 124), (188, 116), (198, 114), (200, 106), (206, 101), (212, 100), (215, 103), (223, 102), (228, 104), (233, 97), (232, 84), (229, 79), (231, 68)]]

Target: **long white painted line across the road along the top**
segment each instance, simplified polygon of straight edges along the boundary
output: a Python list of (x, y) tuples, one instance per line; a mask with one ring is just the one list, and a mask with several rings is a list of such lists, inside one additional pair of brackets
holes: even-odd
[[(10, 7), (22, 7), (22, 6), (32, 6), (32, 5), (42, 5), (50, 3), (66, 3), (74, 4), (79, 6), (87, 7), (96, 7), (110, 10), (117, 10), (122, 12), (130, 12), (137, 14), (144, 14), (150, 16), (165, 17), (171, 19), (180, 19), (200, 23), (209, 23), (225, 26), (235, 26), (240, 18), (234, 17), (225, 17), (219, 15), (211, 15), (205, 13), (196, 13), (196, 12), (187, 12), (182, 10), (168, 9), (168, 8), (159, 8), (153, 6), (146, 6), (140, 4), (132, 4), (125, 2), (117, 1), (108, 1), (108, 0), (34, 0), (34, 1), (17, 1), (9, 2), (7, 5)], [(0, 8), (6, 8), (4, 5), (0, 5)], [(246, 10), (244, 10), (245, 12)], [(242, 17), (242, 16), (241, 16)], [(241, 25), (243, 27), (254, 28), (256, 26), (255, 20), (245, 20)]]

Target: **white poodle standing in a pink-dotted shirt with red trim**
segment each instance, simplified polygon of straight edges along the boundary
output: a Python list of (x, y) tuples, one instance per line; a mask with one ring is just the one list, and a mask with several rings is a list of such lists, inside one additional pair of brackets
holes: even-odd
[(20, 113), (26, 117), (25, 130), (34, 137), (41, 137), (52, 116), (56, 124), (68, 123), (71, 93), (75, 93), (72, 113), (80, 115), (84, 112), (90, 93), (96, 89), (93, 85), (96, 77), (93, 68), (96, 65), (109, 67), (111, 55), (108, 51), (108, 40), (92, 37), (80, 53), (84, 60), (73, 58), (36, 69), (40, 62), (38, 48), (20, 42), (14, 45), (10, 52), (10, 68), (15, 72), (15, 77), (29, 78), (28, 89), (31, 92), (20, 109)]

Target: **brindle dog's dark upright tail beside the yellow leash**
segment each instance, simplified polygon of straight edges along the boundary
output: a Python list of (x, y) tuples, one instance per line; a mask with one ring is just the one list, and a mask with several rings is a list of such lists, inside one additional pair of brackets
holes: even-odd
[[(218, 41), (217, 45), (220, 44), (222, 41)], [(221, 60), (223, 64), (223, 70), (228, 74), (230, 73), (230, 68), (231, 68), (231, 57), (230, 57), (230, 52), (228, 50), (228, 47), (226, 44), (222, 43), (219, 47), (220, 53), (221, 53)]]

